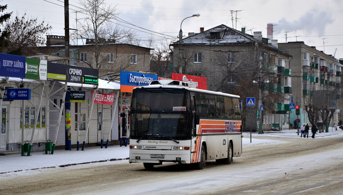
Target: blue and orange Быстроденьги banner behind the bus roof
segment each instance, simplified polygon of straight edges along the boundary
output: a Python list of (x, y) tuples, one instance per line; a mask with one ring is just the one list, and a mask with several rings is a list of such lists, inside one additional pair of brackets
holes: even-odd
[(147, 86), (157, 75), (120, 71), (120, 92), (132, 93), (133, 88)]

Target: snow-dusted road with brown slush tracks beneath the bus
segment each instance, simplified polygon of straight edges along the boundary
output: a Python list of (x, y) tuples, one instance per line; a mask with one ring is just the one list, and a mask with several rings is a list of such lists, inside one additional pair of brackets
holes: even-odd
[(2, 178), (0, 194), (341, 194), (343, 136), (253, 136), (279, 143), (243, 147), (231, 165), (203, 170), (167, 163), (106, 162)]

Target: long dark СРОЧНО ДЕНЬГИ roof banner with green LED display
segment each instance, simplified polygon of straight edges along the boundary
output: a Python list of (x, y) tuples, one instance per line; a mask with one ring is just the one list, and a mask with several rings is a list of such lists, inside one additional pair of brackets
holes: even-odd
[(47, 80), (67, 81), (80, 84), (98, 84), (99, 70), (81, 66), (48, 62)]

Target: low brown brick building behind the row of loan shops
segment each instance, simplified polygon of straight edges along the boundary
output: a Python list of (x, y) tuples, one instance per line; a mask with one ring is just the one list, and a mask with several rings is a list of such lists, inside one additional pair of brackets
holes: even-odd
[[(64, 56), (64, 36), (47, 36), (47, 46), (33, 48), (34, 54), (55, 54)], [(127, 43), (109, 41), (100, 45), (99, 62), (95, 61), (94, 40), (87, 39), (85, 45), (70, 46), (70, 65), (99, 69), (99, 75), (125, 71), (150, 71), (151, 48), (135, 46)]]

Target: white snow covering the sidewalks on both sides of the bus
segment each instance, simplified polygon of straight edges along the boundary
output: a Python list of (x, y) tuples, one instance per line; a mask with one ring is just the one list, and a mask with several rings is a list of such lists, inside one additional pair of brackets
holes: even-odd
[[(283, 142), (271, 139), (273, 137), (294, 137), (294, 139), (304, 139), (300, 138), (300, 133), (298, 135), (296, 132), (297, 130), (283, 130), (265, 132), (264, 134), (251, 133), (254, 136), (254, 138), (251, 139), (251, 143), (250, 132), (243, 132), (243, 148), (256, 144), (270, 145)], [(337, 136), (337, 134), (343, 137), (343, 130), (335, 130), (335, 128), (330, 127), (328, 133), (316, 133), (316, 138), (321, 139), (326, 136)], [(309, 135), (311, 136), (312, 133)], [(265, 139), (265, 136), (268, 136), (269, 139)], [(310, 136), (306, 139), (312, 139)], [(100, 148), (100, 146), (98, 146), (85, 148), (84, 151), (76, 151), (76, 148), (73, 148), (71, 151), (55, 150), (53, 155), (46, 155), (43, 153), (45, 152), (33, 152), (32, 156), (21, 156), (20, 154), (0, 156), (0, 178), (20, 176), (21, 174), (28, 174), (35, 170), (42, 172), (51, 167), (70, 166), (71, 168), (78, 166), (93, 166), (98, 164), (98, 162), (103, 163), (104, 165), (109, 163), (128, 163), (129, 147), (115, 145), (108, 146), (107, 148)]]

